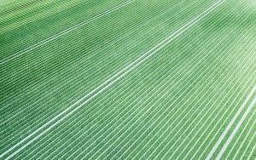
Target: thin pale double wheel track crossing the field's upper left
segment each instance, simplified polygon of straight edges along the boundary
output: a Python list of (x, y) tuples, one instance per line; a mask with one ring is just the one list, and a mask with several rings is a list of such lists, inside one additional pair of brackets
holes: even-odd
[(135, 0), (128, 0), (125, 3), (122, 3), (122, 4), (114, 7), (113, 9), (108, 9), (107, 11), (105, 11), (101, 14), (97, 14), (96, 16), (91, 17), (88, 20), (84, 20), (83, 22), (80, 22), (79, 24), (77, 24), (75, 26), (71, 26), (71, 27), (67, 28), (64, 31), (58, 32), (58, 33), (56, 33), (55, 35), (53, 35), (51, 37), (48, 37), (48, 38), (46, 38), (46, 39), (44, 39), (44, 40), (42, 40), (38, 43), (35, 43), (32, 46), (27, 47), (26, 49), (22, 49), (22, 50), (20, 50), (19, 52), (15, 53), (15, 54), (11, 54), (8, 57), (3, 58), (2, 60), (0, 60), (0, 66), (3, 65), (3, 64), (8, 63), (10, 60), (15, 60), (16, 58), (20, 57), (23, 54), (26, 54), (26, 53), (32, 51), (33, 49), (38, 49), (39, 47), (43, 46), (44, 44), (52, 42), (55, 39), (57, 39), (58, 37), (63, 37), (65, 35), (67, 35), (68, 33), (72, 32), (72, 31), (75, 31), (75, 30), (87, 25), (88, 23), (90, 23), (94, 20), (98, 20), (98, 19), (102, 18), (103, 16), (105, 16), (107, 14), (111, 14), (111, 13), (113, 13), (114, 11), (116, 11), (118, 9), (122, 9), (123, 7), (127, 6), (128, 4), (130, 4), (134, 1)]

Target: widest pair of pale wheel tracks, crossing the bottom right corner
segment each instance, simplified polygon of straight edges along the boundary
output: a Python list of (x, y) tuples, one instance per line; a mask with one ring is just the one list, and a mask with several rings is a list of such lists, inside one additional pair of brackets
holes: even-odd
[[(241, 105), (241, 107), (239, 108), (239, 110), (236, 112), (236, 115), (233, 117), (233, 119), (231, 120), (231, 122), (229, 123), (229, 125), (226, 127), (226, 129), (224, 130), (224, 133), (221, 134), (221, 136), (219, 137), (217, 143), (215, 146), (213, 146), (212, 151), (210, 151), (210, 153), (207, 156), (207, 159), (210, 159), (213, 155), (213, 153), (216, 151), (216, 149), (218, 148), (218, 146), (220, 145), (220, 143), (222, 142), (222, 140), (224, 140), (224, 137), (226, 136), (226, 134), (228, 134), (228, 132), (230, 131), (230, 128), (234, 125), (234, 123), (236, 122), (236, 119), (239, 117), (239, 115), (241, 114), (241, 111), (245, 108), (245, 106), (247, 105), (248, 101), (250, 100), (250, 98), (252, 97), (252, 95), (256, 92), (256, 85), (253, 87), (252, 91), (250, 94), (248, 94), (246, 100), (244, 101), (244, 103)], [(240, 121), (238, 123), (236, 123), (236, 128), (232, 131), (232, 133), (230, 134), (229, 139), (224, 143), (224, 146), (222, 146), (221, 150), (218, 152), (218, 156), (216, 157), (218, 160), (223, 156), (224, 151), (226, 150), (226, 148), (230, 145), (231, 140), (233, 140), (234, 136), (236, 135), (237, 131), (240, 129), (241, 124), (244, 122), (244, 120), (247, 118), (247, 115), (250, 113), (250, 111), (252, 110), (253, 106), (256, 104), (256, 96), (253, 98), (253, 101), (251, 102), (251, 104), (247, 107), (247, 110), (244, 112), (244, 114), (242, 115)]]

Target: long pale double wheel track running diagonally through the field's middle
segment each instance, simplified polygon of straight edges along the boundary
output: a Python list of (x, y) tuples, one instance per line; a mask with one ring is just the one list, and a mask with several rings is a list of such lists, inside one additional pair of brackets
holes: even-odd
[[(132, 1), (130, 1), (129, 3), (131, 3)], [(219, 3), (219, 1), (218, 1)], [(197, 17), (195, 17), (195, 19), (190, 20), (188, 24), (186, 24), (185, 26), (181, 27), (180, 29), (178, 29), (177, 31), (175, 31), (170, 37), (167, 37), (164, 41), (162, 41), (161, 43), (159, 43), (158, 45), (156, 45), (153, 49), (150, 49), (146, 54), (143, 54), (141, 57), (139, 57), (137, 60), (133, 61), (129, 66), (126, 66), (123, 70), (119, 71), (117, 74), (115, 74), (113, 77), (109, 78), (106, 82), (102, 83), (100, 86), (98, 86), (96, 89), (92, 90), (90, 92), (90, 94), (86, 94), (82, 99), (78, 100), (76, 103), (73, 104), (73, 106), (68, 107), (65, 111), (62, 111), (59, 115), (57, 115), (56, 117), (52, 118), (48, 123), (45, 123), (43, 126), (41, 126), (39, 129), (37, 129), (36, 131), (34, 131), (32, 134), (29, 134), (28, 136), (26, 136), (25, 139), (20, 140), (20, 142), (18, 142), (15, 146), (12, 146), (11, 148), (9, 148), (9, 150), (4, 151), (0, 157), (4, 157), (5, 155), (7, 155), (10, 151), (13, 151), (17, 146), (20, 146), (22, 143), (24, 143), (26, 140), (29, 140), (32, 138), (32, 136), (34, 136), (35, 134), (38, 134), (38, 132), (42, 129), (44, 129), (45, 127), (47, 127), (48, 125), (50, 125), (50, 123), (53, 123), (49, 126), (48, 129), (45, 129), (43, 132), (41, 132), (40, 134), (38, 134), (36, 137), (32, 138), (32, 140), (29, 140), (24, 146), (21, 146), (18, 150), (16, 150), (15, 152), (13, 152), (12, 154), (10, 154), (7, 159), (14, 157), (18, 152), (22, 151), (24, 148), (26, 148), (26, 146), (30, 145), (33, 141), (38, 140), (39, 137), (41, 137), (44, 133), (46, 133), (47, 131), (49, 131), (50, 129), (54, 128), (55, 125), (57, 125), (58, 123), (61, 123), (61, 121), (63, 121), (64, 119), (66, 119), (67, 117), (69, 117), (70, 115), (73, 114), (74, 111), (79, 110), (79, 108), (81, 108), (84, 104), (86, 104), (88, 101), (90, 101), (91, 99), (93, 99), (94, 97), (96, 97), (97, 94), (102, 93), (105, 89), (108, 89), (109, 86), (111, 86), (113, 83), (115, 83), (116, 81), (118, 81), (120, 78), (124, 77), (126, 74), (128, 74), (131, 70), (133, 70), (134, 68), (136, 68), (137, 66), (139, 66), (141, 63), (143, 63), (143, 61), (148, 60), (149, 57), (151, 57), (153, 54), (155, 54), (156, 52), (158, 52), (160, 49), (164, 48), (166, 46), (167, 43), (170, 43), (173, 39), (175, 39), (176, 37), (178, 37), (179, 35), (181, 35), (184, 31), (187, 31), (191, 26), (193, 26), (197, 21), (201, 20), (202, 18), (204, 18), (207, 14), (209, 14), (210, 12), (212, 12), (213, 9), (216, 8), (216, 6), (218, 7), (218, 3), (214, 3), (212, 5), (211, 8), (207, 9), (206, 11), (204, 11), (202, 14), (198, 15)], [(121, 6), (119, 6), (116, 9), (119, 9), (122, 6), (127, 5), (128, 3), (122, 4)], [(115, 9), (115, 10), (116, 10)], [(71, 30), (72, 31), (72, 30)], [(125, 71), (126, 70), (126, 71)], [(114, 79), (116, 78), (116, 79)], [(113, 80), (114, 79), (114, 80)], [(112, 81), (112, 82), (111, 82)], [(105, 85), (105, 86), (104, 86)], [(101, 89), (102, 88), (102, 89)], [(99, 90), (99, 91), (97, 91)], [(95, 94), (94, 94), (95, 93)], [(90, 96), (90, 98), (88, 98)], [(88, 98), (88, 100), (85, 100), (86, 98)], [(85, 100), (81, 105), (79, 105), (79, 103), (81, 103), (83, 100)], [(72, 108), (76, 105), (76, 108), (72, 110)], [(70, 111), (67, 113), (67, 111)], [(66, 114), (64, 117), (62, 117), (64, 114)], [(57, 120), (58, 119), (58, 120)], [(54, 123), (54, 121), (56, 120), (56, 122)]]

